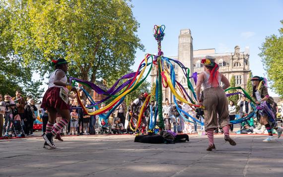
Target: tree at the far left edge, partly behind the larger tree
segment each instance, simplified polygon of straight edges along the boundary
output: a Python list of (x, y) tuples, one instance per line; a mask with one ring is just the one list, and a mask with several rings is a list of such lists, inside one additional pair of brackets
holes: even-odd
[(0, 1), (0, 93), (14, 96), (16, 90), (21, 90), (23, 95), (39, 99), (43, 92), (41, 81), (32, 79), (32, 69), (14, 52), (15, 33), (10, 30), (14, 14), (6, 8), (7, 4)]

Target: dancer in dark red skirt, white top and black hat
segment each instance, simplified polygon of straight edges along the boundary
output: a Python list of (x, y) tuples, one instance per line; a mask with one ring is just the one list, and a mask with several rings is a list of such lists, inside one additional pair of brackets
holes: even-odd
[[(68, 62), (65, 59), (52, 60), (51, 65), (56, 70), (49, 77), (48, 90), (43, 96), (41, 108), (48, 111), (48, 123), (46, 125), (46, 134), (43, 136), (45, 139), (43, 147), (46, 148), (46, 145), (48, 145), (55, 149), (53, 137), (70, 121), (69, 97), (76, 98), (76, 94), (70, 94), (70, 91), (75, 91), (75, 88), (67, 84)], [(62, 116), (62, 119), (53, 127), (57, 113)]]

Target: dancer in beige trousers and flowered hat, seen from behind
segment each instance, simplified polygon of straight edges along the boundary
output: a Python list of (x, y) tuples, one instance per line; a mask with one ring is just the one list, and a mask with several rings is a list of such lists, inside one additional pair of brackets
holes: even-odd
[[(219, 66), (215, 63), (215, 58), (206, 56), (201, 63), (204, 65), (204, 71), (200, 73), (196, 86), (198, 103), (205, 107), (205, 131), (209, 139), (208, 151), (215, 150), (213, 131), (219, 127), (224, 131), (224, 139), (230, 145), (236, 143), (229, 136), (230, 119), (228, 112), (228, 101), (224, 89), (230, 86), (228, 79), (218, 72)], [(220, 83), (223, 87), (220, 87)], [(200, 98), (201, 86), (203, 86), (203, 97)], [(217, 116), (218, 115), (218, 116)]]

